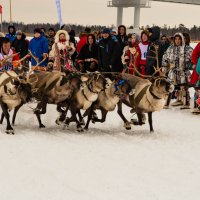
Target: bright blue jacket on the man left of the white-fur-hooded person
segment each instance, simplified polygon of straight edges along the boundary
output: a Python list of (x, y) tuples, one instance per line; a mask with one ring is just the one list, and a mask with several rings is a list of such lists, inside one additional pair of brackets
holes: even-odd
[[(31, 53), (39, 59), (39, 62), (43, 60), (43, 53), (48, 53), (48, 40), (44, 36), (39, 38), (33, 38), (29, 43), (29, 50)], [(47, 66), (48, 60), (45, 60), (40, 66)], [(31, 59), (31, 65), (36, 66), (35, 59)]]

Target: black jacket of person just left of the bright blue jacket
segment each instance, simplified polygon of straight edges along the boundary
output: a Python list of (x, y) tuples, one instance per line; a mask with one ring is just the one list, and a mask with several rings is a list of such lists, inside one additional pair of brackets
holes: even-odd
[(22, 34), (21, 40), (18, 40), (17, 38), (13, 41), (12, 47), (15, 49), (15, 51), (19, 54), (20, 58), (23, 58), (28, 54), (28, 43), (26, 41), (26, 36)]

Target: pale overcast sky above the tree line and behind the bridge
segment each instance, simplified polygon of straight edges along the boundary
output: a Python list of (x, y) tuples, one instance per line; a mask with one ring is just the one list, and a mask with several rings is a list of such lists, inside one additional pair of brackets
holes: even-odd
[[(9, 0), (0, 0), (3, 19), (9, 21)], [(13, 19), (24, 23), (56, 23), (55, 0), (12, 0)], [(64, 23), (111, 25), (116, 23), (116, 8), (107, 8), (107, 0), (61, 0)], [(123, 23), (133, 24), (133, 8), (124, 10)], [(152, 8), (141, 10), (141, 25), (200, 25), (200, 6), (152, 2)]]

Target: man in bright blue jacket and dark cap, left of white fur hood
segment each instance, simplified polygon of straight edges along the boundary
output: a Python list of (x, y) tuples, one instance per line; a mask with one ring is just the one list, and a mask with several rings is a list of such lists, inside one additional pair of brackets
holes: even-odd
[[(46, 70), (48, 63), (48, 40), (42, 35), (40, 28), (34, 30), (34, 38), (29, 43), (29, 51), (39, 62), (45, 59), (45, 61), (40, 63), (40, 66), (38, 66), (37, 69)], [(37, 62), (33, 57), (31, 58), (31, 65), (33, 67), (37, 65)]]

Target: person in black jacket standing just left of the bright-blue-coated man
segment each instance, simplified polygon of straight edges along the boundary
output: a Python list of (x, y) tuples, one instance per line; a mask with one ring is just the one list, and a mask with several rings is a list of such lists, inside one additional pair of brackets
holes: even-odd
[[(22, 31), (16, 32), (16, 39), (12, 43), (12, 48), (15, 52), (19, 53), (19, 58), (24, 58), (28, 54), (28, 43), (26, 41), (26, 35)], [(22, 61), (22, 66), (24, 71), (29, 70), (29, 60), (28, 58)]]

